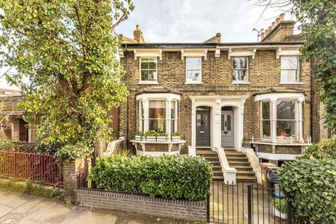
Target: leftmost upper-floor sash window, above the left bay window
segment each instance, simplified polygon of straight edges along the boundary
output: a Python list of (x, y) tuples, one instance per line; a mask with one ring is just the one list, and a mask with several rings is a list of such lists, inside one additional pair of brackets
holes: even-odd
[(156, 57), (140, 58), (140, 83), (158, 81), (158, 59)]

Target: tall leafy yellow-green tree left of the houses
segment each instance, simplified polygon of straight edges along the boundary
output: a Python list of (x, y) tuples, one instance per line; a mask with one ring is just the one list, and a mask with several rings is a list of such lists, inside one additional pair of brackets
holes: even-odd
[(114, 30), (131, 0), (2, 0), (0, 8), (0, 66), (15, 67), (6, 78), (21, 88), (27, 120), (42, 115), (38, 141), (61, 146), (64, 158), (91, 153), (96, 139), (109, 139), (109, 109), (127, 98)]

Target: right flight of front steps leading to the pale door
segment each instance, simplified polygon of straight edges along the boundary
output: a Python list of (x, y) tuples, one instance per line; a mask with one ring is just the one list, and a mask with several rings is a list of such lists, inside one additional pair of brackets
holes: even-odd
[(235, 149), (225, 149), (224, 152), (230, 167), (237, 169), (237, 182), (257, 182), (255, 172), (253, 172), (253, 168), (251, 167), (251, 164), (248, 162), (248, 158), (244, 153), (235, 151)]

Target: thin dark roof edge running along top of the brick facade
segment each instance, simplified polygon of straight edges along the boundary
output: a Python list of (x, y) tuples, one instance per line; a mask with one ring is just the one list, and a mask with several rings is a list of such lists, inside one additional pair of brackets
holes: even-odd
[(302, 45), (304, 42), (233, 42), (233, 43), (123, 43), (121, 48), (216, 48), (218, 47), (230, 47), (230, 46), (262, 46), (262, 45)]

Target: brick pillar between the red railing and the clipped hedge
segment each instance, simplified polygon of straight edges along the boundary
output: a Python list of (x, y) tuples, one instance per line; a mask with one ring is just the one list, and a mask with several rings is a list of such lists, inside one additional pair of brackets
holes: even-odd
[(87, 175), (91, 168), (90, 156), (66, 160), (63, 163), (64, 200), (73, 199), (74, 189), (87, 186)]

